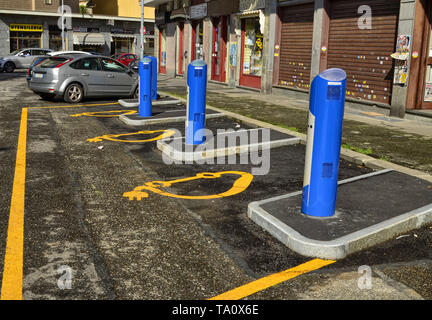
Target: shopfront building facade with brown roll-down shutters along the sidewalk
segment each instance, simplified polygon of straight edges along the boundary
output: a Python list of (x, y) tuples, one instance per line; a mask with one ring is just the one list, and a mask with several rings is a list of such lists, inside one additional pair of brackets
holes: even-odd
[(156, 9), (159, 72), (194, 59), (209, 81), (307, 97), (328, 68), (348, 76), (347, 101), (404, 117), (432, 109), (431, 1), (147, 0)]

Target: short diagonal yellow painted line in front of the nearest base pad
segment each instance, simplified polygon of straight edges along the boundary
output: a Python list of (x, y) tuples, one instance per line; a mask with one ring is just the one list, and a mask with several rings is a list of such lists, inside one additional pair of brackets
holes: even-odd
[(329, 264), (335, 263), (335, 260), (314, 259), (303, 263), (297, 267), (269, 275), (267, 277), (252, 281), (244, 286), (222, 293), (209, 300), (240, 300), (251, 294), (257, 293), (264, 289), (273, 287), (279, 283), (298, 277), (302, 274), (318, 270)]

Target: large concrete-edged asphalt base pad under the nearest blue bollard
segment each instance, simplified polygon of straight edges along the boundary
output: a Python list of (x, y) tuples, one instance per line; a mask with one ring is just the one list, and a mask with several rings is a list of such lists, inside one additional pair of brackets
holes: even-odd
[(425, 180), (383, 170), (339, 182), (336, 213), (301, 213), (302, 192), (249, 204), (262, 228), (308, 257), (342, 259), (432, 223), (432, 188)]

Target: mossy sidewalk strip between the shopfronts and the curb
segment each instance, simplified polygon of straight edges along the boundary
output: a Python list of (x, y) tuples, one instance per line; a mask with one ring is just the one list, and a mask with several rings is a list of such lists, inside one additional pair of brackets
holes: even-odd
[[(186, 97), (183, 78), (159, 79), (159, 90)], [(242, 116), (306, 134), (309, 101), (284, 95), (264, 95), (209, 82), (207, 104)], [(432, 121), (388, 117), (367, 107), (356, 110), (347, 104), (342, 144), (346, 149), (375, 159), (432, 173)]]

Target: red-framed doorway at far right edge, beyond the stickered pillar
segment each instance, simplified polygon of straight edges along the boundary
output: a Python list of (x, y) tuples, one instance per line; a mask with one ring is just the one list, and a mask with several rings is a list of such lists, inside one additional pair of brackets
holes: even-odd
[(432, 109), (432, 4), (428, 1), (427, 6), (420, 76), (422, 92), (417, 102), (419, 109)]

